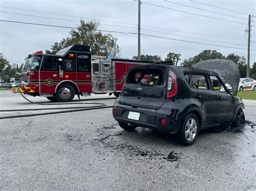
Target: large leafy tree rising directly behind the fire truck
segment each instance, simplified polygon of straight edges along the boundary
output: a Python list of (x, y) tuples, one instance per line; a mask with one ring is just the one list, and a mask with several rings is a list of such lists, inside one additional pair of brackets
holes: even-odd
[(71, 46), (73, 44), (89, 45), (94, 55), (113, 56), (120, 55), (120, 47), (117, 45), (117, 38), (111, 34), (103, 34), (97, 31), (99, 23), (85, 22), (80, 20), (78, 29), (72, 29), (67, 38), (63, 38), (59, 43), (52, 45), (51, 50), (46, 50), (48, 54), (55, 54), (59, 49)]

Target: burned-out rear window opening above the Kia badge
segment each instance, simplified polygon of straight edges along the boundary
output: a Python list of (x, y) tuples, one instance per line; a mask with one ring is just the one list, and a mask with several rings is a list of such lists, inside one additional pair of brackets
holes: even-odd
[(127, 76), (128, 84), (148, 84), (150, 86), (165, 86), (165, 72), (158, 68), (133, 69)]

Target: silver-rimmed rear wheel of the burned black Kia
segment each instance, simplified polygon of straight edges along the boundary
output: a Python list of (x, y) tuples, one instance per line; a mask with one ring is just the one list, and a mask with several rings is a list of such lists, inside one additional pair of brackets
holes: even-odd
[(197, 139), (199, 132), (198, 118), (194, 114), (188, 114), (178, 132), (180, 142), (183, 145), (192, 145)]

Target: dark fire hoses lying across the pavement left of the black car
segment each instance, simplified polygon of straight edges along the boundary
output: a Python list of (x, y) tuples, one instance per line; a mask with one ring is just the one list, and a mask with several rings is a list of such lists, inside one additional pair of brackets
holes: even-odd
[[(26, 98), (22, 93), (21, 90), (19, 90), (19, 94), (28, 102), (33, 103), (33, 104), (38, 104), (38, 105), (74, 105), (74, 104), (90, 104), (90, 105), (95, 105), (95, 106), (84, 106), (84, 107), (62, 107), (62, 108), (35, 108), (35, 109), (8, 109), (8, 110), (0, 110), (0, 112), (14, 112), (14, 111), (38, 111), (38, 110), (62, 110), (62, 109), (71, 109), (71, 110), (65, 110), (65, 111), (52, 111), (52, 112), (45, 112), (45, 113), (40, 113), (40, 114), (26, 114), (26, 115), (13, 115), (13, 116), (5, 116), (5, 117), (0, 117), (0, 119), (8, 119), (8, 118), (18, 118), (18, 117), (31, 117), (31, 116), (39, 116), (39, 115), (50, 115), (50, 114), (63, 114), (67, 112), (76, 112), (76, 111), (87, 111), (87, 110), (95, 110), (95, 109), (105, 109), (105, 108), (112, 108), (113, 105), (108, 106), (105, 103), (96, 103), (96, 102), (91, 102), (91, 103), (38, 103), (38, 102), (33, 102)], [(107, 98), (107, 99), (113, 99), (113, 98)], [(93, 100), (102, 100), (102, 99), (93, 99)], [(106, 99), (104, 99), (106, 100)], [(79, 101), (87, 101), (87, 100), (79, 100)]]

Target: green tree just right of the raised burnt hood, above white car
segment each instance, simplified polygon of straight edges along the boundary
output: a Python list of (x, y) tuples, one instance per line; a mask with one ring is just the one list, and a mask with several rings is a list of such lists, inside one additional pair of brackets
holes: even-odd
[(239, 56), (232, 53), (232, 54), (228, 54), (225, 59), (235, 62), (238, 66), (241, 77), (246, 77), (247, 65), (246, 65), (245, 56)]

